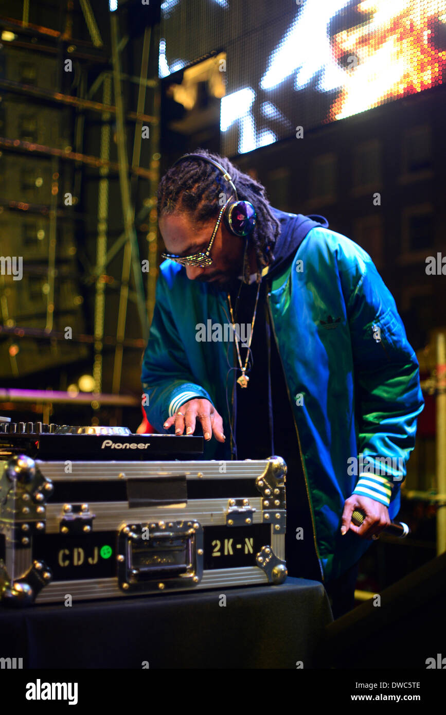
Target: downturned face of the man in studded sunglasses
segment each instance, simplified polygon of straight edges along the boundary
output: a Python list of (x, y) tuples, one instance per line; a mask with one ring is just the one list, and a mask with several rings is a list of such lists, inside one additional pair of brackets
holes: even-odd
[[(187, 214), (164, 215), (159, 220), (159, 230), (168, 253), (188, 256), (207, 250), (217, 218), (197, 225)], [(203, 268), (185, 266), (190, 280), (212, 282), (226, 290), (231, 282), (242, 275), (244, 240), (229, 233), (223, 221), (217, 230), (210, 257), (212, 265)]]

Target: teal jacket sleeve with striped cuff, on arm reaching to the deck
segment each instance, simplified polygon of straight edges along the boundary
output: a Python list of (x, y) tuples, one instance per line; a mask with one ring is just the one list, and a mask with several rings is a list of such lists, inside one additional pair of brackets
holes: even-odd
[(194, 383), (184, 343), (169, 305), (169, 288), (159, 273), (149, 341), (142, 360), (143, 405), (159, 432), (164, 421), (194, 398), (212, 403), (209, 393)]

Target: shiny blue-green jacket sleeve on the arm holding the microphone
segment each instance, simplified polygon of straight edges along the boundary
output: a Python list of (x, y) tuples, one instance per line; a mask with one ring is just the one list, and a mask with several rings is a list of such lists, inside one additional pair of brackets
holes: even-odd
[(406, 475), (424, 400), (417, 357), (395, 300), (370, 256), (361, 255), (367, 260), (352, 272), (355, 287), (347, 302), (359, 457), (353, 493), (389, 506)]

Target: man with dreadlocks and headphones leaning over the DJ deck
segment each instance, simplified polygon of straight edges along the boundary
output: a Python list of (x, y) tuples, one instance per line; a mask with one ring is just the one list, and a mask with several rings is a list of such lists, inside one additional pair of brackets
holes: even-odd
[[(337, 618), (399, 511), (424, 404), (395, 301), (357, 244), (274, 209), (218, 154), (169, 169), (158, 216), (169, 254), (142, 367), (147, 418), (159, 432), (201, 428), (204, 459), (284, 458), (287, 568), (322, 581)], [(225, 324), (246, 325), (245, 342), (237, 328), (222, 342)]]

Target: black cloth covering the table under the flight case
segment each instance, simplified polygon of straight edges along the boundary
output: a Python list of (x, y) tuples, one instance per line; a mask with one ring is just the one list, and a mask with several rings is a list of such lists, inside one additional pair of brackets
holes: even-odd
[[(226, 606), (221, 606), (226, 596)], [(332, 621), (322, 583), (287, 578), (164, 596), (0, 606), (0, 657), (31, 669), (317, 667)]]

